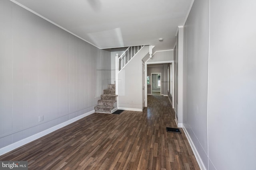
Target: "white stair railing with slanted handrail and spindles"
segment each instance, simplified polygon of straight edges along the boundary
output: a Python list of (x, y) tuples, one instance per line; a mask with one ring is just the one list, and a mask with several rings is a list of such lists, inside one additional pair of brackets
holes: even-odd
[(118, 71), (124, 68), (124, 66), (132, 59), (132, 57), (134, 57), (134, 55), (136, 55), (140, 51), (140, 49), (142, 49), (142, 47), (142, 45), (128, 47), (126, 51), (124, 51), (124, 53), (120, 55), (120, 57), (118, 56), (118, 54), (116, 54), (116, 56), (118, 57)]

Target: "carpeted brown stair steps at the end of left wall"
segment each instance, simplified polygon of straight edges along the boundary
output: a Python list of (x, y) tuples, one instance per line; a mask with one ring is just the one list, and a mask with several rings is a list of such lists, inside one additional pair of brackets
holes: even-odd
[(108, 84), (108, 89), (103, 90), (103, 94), (98, 100), (98, 106), (95, 106), (95, 112), (113, 113), (117, 110), (116, 102), (116, 84)]

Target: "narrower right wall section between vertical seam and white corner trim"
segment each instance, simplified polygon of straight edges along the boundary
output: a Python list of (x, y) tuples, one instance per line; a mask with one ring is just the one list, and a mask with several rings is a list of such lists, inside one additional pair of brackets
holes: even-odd
[(186, 66), (183, 75), (186, 76), (186, 85), (184, 84), (186, 99), (183, 104), (186, 104), (186, 109), (183, 110), (183, 127), (190, 135), (206, 167), (208, 167), (208, 49), (209, 0), (195, 0), (184, 25), (184, 61), (186, 61), (184, 65)]

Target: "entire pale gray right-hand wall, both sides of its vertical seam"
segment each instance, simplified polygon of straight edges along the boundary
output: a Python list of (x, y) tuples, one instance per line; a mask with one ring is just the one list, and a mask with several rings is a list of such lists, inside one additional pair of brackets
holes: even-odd
[(209, 2), (195, 0), (184, 25), (183, 125), (206, 169), (252, 170), (256, 2)]

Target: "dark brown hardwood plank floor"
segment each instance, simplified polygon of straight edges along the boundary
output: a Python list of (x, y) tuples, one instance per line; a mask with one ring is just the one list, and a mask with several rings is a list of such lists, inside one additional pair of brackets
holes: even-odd
[(0, 156), (27, 160), (29, 170), (198, 170), (167, 97), (148, 96), (143, 112), (93, 113)]

